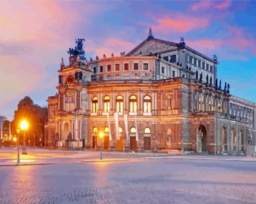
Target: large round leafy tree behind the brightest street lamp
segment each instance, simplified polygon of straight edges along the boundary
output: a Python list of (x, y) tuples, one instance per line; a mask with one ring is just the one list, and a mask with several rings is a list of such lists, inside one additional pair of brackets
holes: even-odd
[(33, 100), (29, 96), (26, 96), (18, 103), (18, 110), (14, 112), (14, 120), (11, 123), (12, 129), (16, 131), (21, 121), (27, 120), (29, 128), (26, 131), (26, 139), (30, 139), (33, 145), (35, 143), (39, 145), (39, 137), (44, 134), (44, 124), (48, 119), (47, 115), (47, 108), (34, 104)]

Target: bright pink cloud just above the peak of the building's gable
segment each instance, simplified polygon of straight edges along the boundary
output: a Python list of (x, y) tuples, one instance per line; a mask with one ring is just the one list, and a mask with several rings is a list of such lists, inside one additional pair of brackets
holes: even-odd
[(173, 15), (173, 17), (159, 18), (157, 25), (152, 29), (157, 32), (163, 32), (165, 35), (174, 32), (189, 32), (194, 29), (206, 28), (210, 25), (207, 18), (199, 18), (185, 15)]

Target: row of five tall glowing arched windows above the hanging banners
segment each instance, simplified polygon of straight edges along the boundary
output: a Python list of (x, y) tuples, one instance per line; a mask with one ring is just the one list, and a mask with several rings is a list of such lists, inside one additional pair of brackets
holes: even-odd
[[(116, 112), (123, 112), (123, 97), (121, 95), (118, 95), (116, 97)], [(110, 97), (105, 96), (103, 98), (103, 112), (107, 113), (110, 110)], [(130, 96), (129, 99), (129, 111), (136, 113), (138, 110), (137, 106), (137, 97), (135, 95)], [(149, 95), (146, 95), (144, 97), (144, 106), (143, 110), (145, 113), (151, 113), (151, 98)], [(97, 113), (98, 111), (98, 97), (94, 96), (92, 98), (92, 106), (91, 106), (91, 112)]]

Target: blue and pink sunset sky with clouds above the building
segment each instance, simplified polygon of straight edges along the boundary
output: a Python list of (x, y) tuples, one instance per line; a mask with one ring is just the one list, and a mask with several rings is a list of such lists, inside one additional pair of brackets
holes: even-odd
[(148, 37), (179, 42), (212, 58), (230, 94), (256, 102), (256, 1), (1, 1), (0, 115), (13, 119), (30, 96), (47, 105), (61, 58), (84, 38), (87, 59), (128, 53)]

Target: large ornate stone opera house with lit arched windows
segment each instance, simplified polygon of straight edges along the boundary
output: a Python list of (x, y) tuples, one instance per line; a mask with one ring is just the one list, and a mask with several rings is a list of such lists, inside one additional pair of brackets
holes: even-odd
[[(127, 55), (71, 55), (48, 97), (48, 145), (242, 153), (254, 144), (255, 104), (216, 79), (217, 58), (149, 37)], [(118, 123), (117, 123), (118, 120)], [(118, 131), (117, 131), (118, 130)]]

